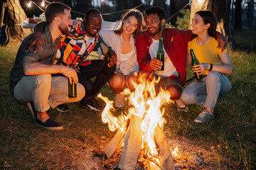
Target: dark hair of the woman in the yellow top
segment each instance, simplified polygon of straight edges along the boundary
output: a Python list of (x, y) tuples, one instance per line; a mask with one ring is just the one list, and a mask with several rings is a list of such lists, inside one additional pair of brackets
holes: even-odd
[(217, 18), (212, 11), (197, 11), (195, 15), (198, 14), (203, 18), (203, 23), (210, 23), (210, 27), (208, 28), (208, 34), (216, 38), (216, 28), (217, 28)]

